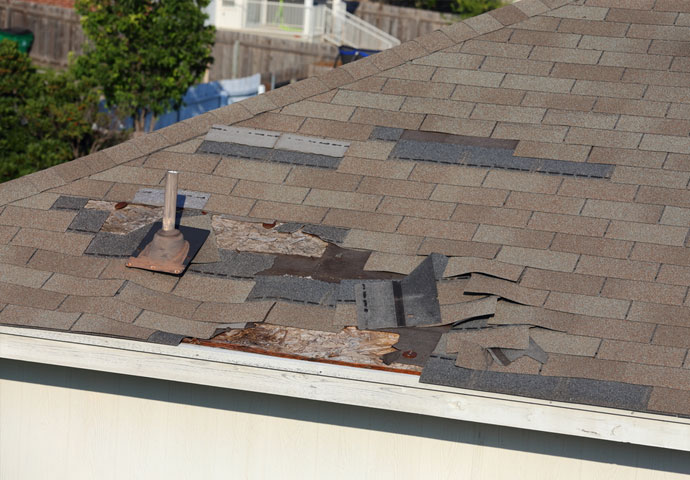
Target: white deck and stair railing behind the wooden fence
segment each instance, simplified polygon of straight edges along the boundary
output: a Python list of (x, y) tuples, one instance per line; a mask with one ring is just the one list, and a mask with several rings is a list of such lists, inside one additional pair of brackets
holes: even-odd
[(307, 40), (370, 50), (386, 50), (400, 44), (397, 38), (344, 8), (334, 11), (323, 4), (306, 7), (298, 3), (246, 0), (242, 10), (242, 28), (270, 29)]

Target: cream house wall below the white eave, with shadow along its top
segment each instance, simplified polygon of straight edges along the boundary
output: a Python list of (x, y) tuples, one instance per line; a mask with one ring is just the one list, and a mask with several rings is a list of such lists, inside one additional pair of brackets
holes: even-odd
[(688, 478), (690, 455), (0, 360), (2, 479)]

